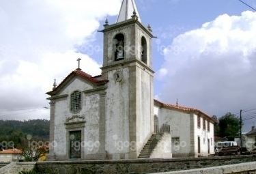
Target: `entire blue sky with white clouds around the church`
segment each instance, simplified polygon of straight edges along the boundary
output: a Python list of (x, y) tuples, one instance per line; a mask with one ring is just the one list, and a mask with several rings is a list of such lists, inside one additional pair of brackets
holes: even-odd
[[(244, 0), (256, 8), (255, 0)], [(16, 4), (15, 6), (13, 4)], [(152, 26), (154, 95), (208, 115), (256, 114), (256, 13), (238, 0), (137, 0)], [(105, 18), (115, 23), (121, 0), (54, 0), (0, 5), (0, 118), (47, 118), (53, 79), (81, 67), (100, 74)], [(37, 95), (35, 95), (35, 93)], [(254, 113), (253, 113), (254, 112)], [(29, 116), (28, 116), (29, 115)], [(245, 122), (245, 129), (256, 119)]]

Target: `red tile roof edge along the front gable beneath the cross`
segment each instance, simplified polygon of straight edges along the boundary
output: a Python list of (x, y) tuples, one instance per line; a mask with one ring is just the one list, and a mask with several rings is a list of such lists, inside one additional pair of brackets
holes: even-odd
[(74, 70), (64, 80), (59, 83), (59, 85), (53, 89), (53, 91), (49, 91), (46, 94), (53, 96), (55, 95), (68, 81), (70, 81), (74, 76), (80, 76), (81, 78), (85, 79), (85, 81), (89, 81), (90, 83), (94, 83), (95, 85), (102, 85), (108, 82), (108, 80), (102, 78), (102, 76), (91, 76), (82, 70)]

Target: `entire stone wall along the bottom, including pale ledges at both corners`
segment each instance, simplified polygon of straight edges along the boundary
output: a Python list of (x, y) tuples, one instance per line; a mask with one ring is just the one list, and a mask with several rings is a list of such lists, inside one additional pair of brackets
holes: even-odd
[[(207, 168), (211, 166), (215, 167)], [(140, 174), (160, 172), (167, 172), (167, 174), (256, 174), (256, 156), (66, 162), (16, 162), (1, 168), (0, 174), (18, 174), (18, 171), (30, 171), (32, 169), (35, 169), (38, 174)]]

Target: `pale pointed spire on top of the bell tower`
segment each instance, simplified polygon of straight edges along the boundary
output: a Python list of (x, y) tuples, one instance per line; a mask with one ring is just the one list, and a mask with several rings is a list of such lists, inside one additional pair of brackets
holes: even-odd
[(139, 17), (139, 12), (134, 0), (123, 0), (119, 15), (117, 17), (117, 23), (132, 18), (134, 12), (137, 14), (138, 20), (141, 22), (141, 18)]

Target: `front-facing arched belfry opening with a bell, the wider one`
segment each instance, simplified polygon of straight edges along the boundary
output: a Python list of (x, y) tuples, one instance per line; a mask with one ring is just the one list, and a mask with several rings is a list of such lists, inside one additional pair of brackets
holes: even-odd
[(115, 51), (115, 61), (124, 59), (124, 35), (121, 33), (115, 35), (113, 43)]

